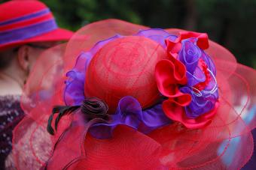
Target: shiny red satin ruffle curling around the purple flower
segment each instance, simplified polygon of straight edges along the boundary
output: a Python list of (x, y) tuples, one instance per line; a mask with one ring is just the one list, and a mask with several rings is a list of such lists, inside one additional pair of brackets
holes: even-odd
[(181, 122), (185, 127), (190, 129), (198, 129), (205, 127), (211, 123), (212, 117), (218, 108), (218, 102), (215, 108), (206, 114), (200, 115), (197, 118), (187, 118), (184, 106), (188, 106), (192, 100), (190, 94), (184, 94), (179, 90), (179, 86), (187, 84), (186, 67), (178, 61), (178, 52), (181, 50), (181, 40), (197, 37), (197, 46), (200, 49), (207, 49), (209, 41), (207, 34), (196, 32), (181, 32), (174, 42), (166, 40), (167, 52), (169, 60), (159, 61), (156, 65), (155, 76), (157, 87), (163, 96), (168, 97), (168, 100), (163, 101), (163, 112), (173, 121)]

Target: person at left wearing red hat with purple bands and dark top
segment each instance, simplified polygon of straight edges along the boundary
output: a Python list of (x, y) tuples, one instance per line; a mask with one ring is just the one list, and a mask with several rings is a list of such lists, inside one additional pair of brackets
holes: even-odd
[[(11, 153), (12, 130), (23, 118), (20, 95), (38, 56), (69, 40), (72, 31), (58, 28), (41, 1), (0, 4), (0, 169)], [(50, 56), (49, 56), (50, 57)]]

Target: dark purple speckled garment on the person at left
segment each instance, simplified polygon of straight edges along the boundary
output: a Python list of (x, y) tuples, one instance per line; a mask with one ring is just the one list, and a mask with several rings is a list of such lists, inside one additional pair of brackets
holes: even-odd
[(12, 149), (12, 130), (23, 117), (20, 96), (0, 96), (0, 169), (6, 169), (5, 160)]

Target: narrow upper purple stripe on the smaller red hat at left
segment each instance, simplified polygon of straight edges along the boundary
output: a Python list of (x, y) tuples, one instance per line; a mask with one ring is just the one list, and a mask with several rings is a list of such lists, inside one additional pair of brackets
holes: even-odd
[(38, 16), (43, 16), (47, 13), (50, 13), (49, 8), (46, 8), (44, 10), (39, 10), (38, 12), (35, 12), (35, 13), (29, 13), (25, 16), (20, 16), (20, 17), (14, 18), (14, 19), (8, 19), (7, 21), (0, 22), (0, 26), (13, 24), (14, 22), (20, 22), (20, 21), (23, 21), (23, 20), (26, 20), (26, 19), (32, 19), (32, 18), (35, 18), (35, 17), (38, 17)]

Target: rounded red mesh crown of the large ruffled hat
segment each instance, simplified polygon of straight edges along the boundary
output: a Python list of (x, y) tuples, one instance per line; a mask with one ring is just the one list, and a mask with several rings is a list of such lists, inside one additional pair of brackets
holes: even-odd
[(167, 55), (163, 47), (146, 37), (113, 40), (90, 61), (85, 96), (105, 100), (111, 112), (125, 96), (135, 97), (142, 108), (152, 106), (160, 98), (154, 66), (164, 58)]

